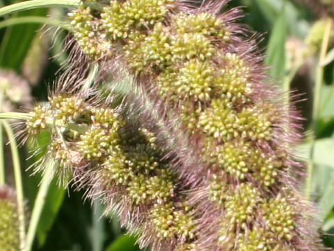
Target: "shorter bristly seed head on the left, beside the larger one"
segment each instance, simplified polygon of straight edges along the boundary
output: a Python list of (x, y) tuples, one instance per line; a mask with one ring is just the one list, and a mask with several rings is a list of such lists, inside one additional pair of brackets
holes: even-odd
[(197, 216), (186, 203), (188, 188), (170, 160), (163, 159), (154, 133), (127, 121), (122, 106), (105, 107), (95, 98), (53, 93), (49, 102), (35, 106), (26, 128), (29, 135), (51, 135), (36, 170), (43, 171), (53, 160), (61, 183), (66, 185), (72, 177), (87, 197), (104, 201), (107, 211), (120, 214), (122, 225), (142, 234), (143, 246), (159, 250), (165, 243), (175, 250), (176, 245), (195, 243)]

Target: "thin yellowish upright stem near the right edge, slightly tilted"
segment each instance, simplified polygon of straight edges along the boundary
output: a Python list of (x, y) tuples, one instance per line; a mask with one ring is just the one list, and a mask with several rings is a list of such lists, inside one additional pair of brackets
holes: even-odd
[(314, 169), (314, 155), (315, 155), (315, 132), (317, 131), (317, 120), (319, 118), (319, 104), (321, 96), (321, 86), (324, 82), (324, 66), (322, 62), (326, 58), (326, 52), (328, 50), (329, 36), (331, 33), (333, 21), (331, 18), (328, 18), (326, 24), (326, 30), (324, 33), (324, 38), (321, 44), (321, 51), (319, 56), (319, 62), (316, 70), (315, 78), (315, 92), (313, 96), (313, 107), (312, 107), (312, 137), (311, 137), (311, 149), (310, 149), (310, 160), (308, 161), (308, 177), (306, 178), (306, 187), (305, 187), (305, 196), (307, 199), (310, 199), (312, 191), (312, 174)]

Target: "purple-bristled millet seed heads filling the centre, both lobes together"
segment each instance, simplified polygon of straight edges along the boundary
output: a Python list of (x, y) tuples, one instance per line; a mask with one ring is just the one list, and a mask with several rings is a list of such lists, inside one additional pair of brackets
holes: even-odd
[[(298, 190), (299, 116), (266, 77), (240, 10), (86, 2), (69, 14), (70, 68), (26, 122), (28, 135), (51, 132), (42, 163), (56, 160), (54, 172), (151, 250), (319, 250)], [(134, 83), (119, 104), (104, 90), (125, 77)]]

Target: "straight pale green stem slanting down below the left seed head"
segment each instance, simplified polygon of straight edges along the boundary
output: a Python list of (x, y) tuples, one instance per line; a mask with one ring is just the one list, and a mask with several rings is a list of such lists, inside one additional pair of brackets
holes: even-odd
[(45, 167), (42, 182), (40, 183), (40, 189), (38, 190), (38, 195), (35, 199), (35, 203), (33, 204), (33, 212), (31, 213), (29, 229), (26, 234), (26, 248), (24, 251), (31, 251), (33, 247), (33, 240), (35, 238), (38, 222), (40, 221), (40, 215), (42, 214), (42, 209), (45, 205), (45, 198), (47, 197), (47, 192), (51, 183), (53, 168), (54, 162), (50, 160)]

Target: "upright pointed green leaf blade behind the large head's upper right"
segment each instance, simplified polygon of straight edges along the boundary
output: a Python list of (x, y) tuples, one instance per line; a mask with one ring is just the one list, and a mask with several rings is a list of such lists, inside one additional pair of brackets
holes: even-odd
[(271, 66), (269, 75), (275, 79), (282, 79), (285, 72), (285, 40), (289, 31), (286, 17), (285, 8), (281, 11), (275, 24), (273, 25), (273, 31), (269, 38), (269, 45), (267, 48), (267, 56), (264, 63), (267, 66)]

